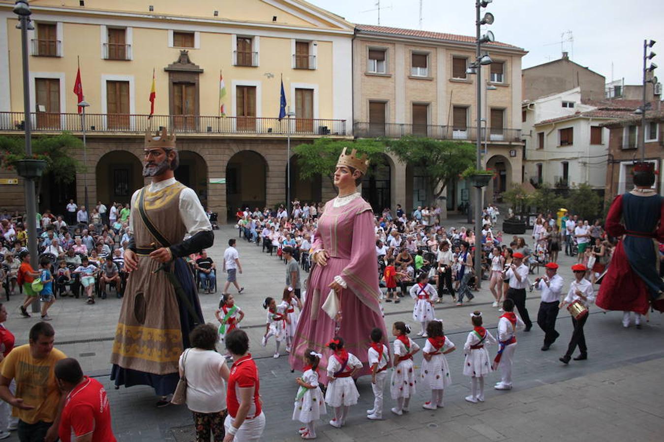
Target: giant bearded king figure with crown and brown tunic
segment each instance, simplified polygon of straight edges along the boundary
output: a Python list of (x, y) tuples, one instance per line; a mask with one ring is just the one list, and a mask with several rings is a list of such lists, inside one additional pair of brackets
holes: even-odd
[[(182, 259), (212, 246), (214, 234), (196, 193), (177, 182), (175, 134), (145, 135), (143, 176), (152, 182), (131, 196), (133, 236), (124, 252), (129, 279), (120, 310), (111, 379), (149, 385), (168, 404), (179, 379), (178, 360), (203, 313), (189, 266)], [(187, 239), (185, 239), (187, 237)]]

